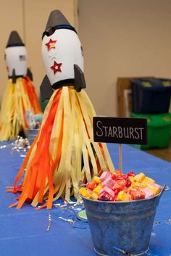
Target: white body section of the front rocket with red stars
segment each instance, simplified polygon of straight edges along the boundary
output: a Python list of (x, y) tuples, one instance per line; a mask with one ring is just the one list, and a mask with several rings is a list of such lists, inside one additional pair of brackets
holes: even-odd
[[(56, 41), (54, 47), (48, 49), (49, 41)], [(43, 36), (42, 57), (46, 68), (46, 74), (51, 86), (61, 80), (74, 79), (74, 65), (78, 65), (83, 71), (83, 51), (75, 31), (62, 28), (57, 29), (51, 36)], [(57, 72), (53, 70), (56, 64)], [(52, 68), (51, 68), (52, 67)]]

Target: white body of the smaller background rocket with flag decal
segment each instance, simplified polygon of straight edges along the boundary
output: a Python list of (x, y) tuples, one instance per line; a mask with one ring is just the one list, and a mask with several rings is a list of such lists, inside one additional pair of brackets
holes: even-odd
[(9, 76), (26, 75), (28, 70), (28, 52), (25, 46), (9, 46), (5, 49), (5, 62)]

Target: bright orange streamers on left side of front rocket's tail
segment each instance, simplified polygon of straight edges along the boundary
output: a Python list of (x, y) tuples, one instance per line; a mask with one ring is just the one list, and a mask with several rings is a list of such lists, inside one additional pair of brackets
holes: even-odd
[[(47, 208), (50, 209), (52, 205), (53, 195), (54, 195), (54, 185), (53, 185), (53, 171), (54, 162), (49, 154), (49, 143), (51, 139), (51, 131), (54, 124), (55, 114), (57, 112), (57, 107), (59, 104), (59, 99), (61, 96), (61, 90), (59, 90), (54, 97), (54, 102), (51, 104), (51, 109), (49, 111), (49, 116), (41, 129), (41, 134), (37, 136), (38, 139), (34, 141), (33, 146), (37, 143), (37, 150), (33, 155), (33, 159), (28, 167), (25, 180), (23, 181), (22, 194), (19, 198), (17, 209), (22, 207), (23, 203), (30, 199), (31, 201), (36, 197), (38, 193), (38, 202), (43, 201), (43, 194), (46, 185), (46, 178), (48, 178), (49, 183), (49, 198), (47, 202)], [(17, 191), (16, 183), (20, 180), (23, 171), (27, 168), (28, 160), (30, 157), (30, 152), (33, 149), (30, 148), (25, 161), (20, 168), (20, 172), (14, 182), (14, 192)], [(59, 153), (60, 154), (60, 153)], [(59, 159), (60, 157), (58, 157)], [(14, 205), (12, 205), (14, 206)]]

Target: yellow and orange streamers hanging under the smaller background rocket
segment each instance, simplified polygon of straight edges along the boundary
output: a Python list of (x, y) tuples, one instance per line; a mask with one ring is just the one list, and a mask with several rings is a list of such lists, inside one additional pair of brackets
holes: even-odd
[(35, 88), (28, 76), (8, 80), (7, 89), (1, 105), (0, 112), (0, 140), (16, 139), (20, 131), (27, 136), (28, 124), (25, 120), (25, 111), (33, 110), (35, 114), (41, 113)]

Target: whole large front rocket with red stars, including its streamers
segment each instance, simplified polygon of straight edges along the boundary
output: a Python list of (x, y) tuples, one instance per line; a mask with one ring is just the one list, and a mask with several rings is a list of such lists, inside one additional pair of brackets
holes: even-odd
[[(14, 205), (48, 209), (59, 197), (78, 199), (78, 181), (91, 181), (104, 170), (114, 171), (106, 144), (93, 141), (93, 105), (83, 88), (83, 52), (80, 40), (59, 10), (49, 16), (42, 40), (46, 76), (41, 96), (49, 99), (40, 132), (9, 191), (21, 191)], [(22, 183), (17, 186), (25, 172)], [(14, 206), (12, 205), (12, 206)], [(43, 207), (41, 206), (41, 207)]]

